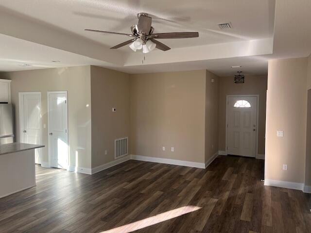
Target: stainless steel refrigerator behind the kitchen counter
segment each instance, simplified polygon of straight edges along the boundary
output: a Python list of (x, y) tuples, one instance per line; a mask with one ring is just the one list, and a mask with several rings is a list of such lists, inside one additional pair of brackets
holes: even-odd
[(13, 105), (0, 103), (0, 144), (14, 142)]

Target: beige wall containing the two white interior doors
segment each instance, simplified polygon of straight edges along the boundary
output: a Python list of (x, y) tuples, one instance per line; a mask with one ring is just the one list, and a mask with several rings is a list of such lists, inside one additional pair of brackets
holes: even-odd
[[(16, 136), (19, 141), (18, 92), (41, 92), (42, 161), (48, 163), (47, 92), (68, 91), (68, 132), (70, 166), (91, 167), (91, 93), (90, 67), (66, 67), (1, 73), (0, 78), (10, 79), (11, 100), (15, 105)], [(89, 104), (89, 107), (86, 107)], [(78, 161), (76, 161), (76, 153)]]

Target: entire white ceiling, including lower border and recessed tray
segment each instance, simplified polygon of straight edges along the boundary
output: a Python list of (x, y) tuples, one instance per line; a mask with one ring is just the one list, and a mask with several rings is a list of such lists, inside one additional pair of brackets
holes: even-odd
[[(311, 53), (310, 10), (310, 0), (276, 0), (276, 6), (274, 0), (1, 0), (0, 70), (96, 65), (128, 73), (208, 69), (227, 76), (237, 71), (230, 66), (242, 65), (245, 74), (266, 74), (269, 59)], [(152, 15), (156, 32), (200, 36), (163, 39), (172, 50), (154, 50), (142, 64), (144, 55), (127, 46), (108, 49), (128, 38), (84, 31), (129, 33), (138, 12)], [(234, 28), (220, 30), (217, 23), (227, 21)]]

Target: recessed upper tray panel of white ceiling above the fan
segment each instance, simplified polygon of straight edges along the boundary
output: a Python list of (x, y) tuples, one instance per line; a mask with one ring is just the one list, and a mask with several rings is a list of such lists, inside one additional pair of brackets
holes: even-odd
[[(127, 37), (86, 32), (96, 29), (131, 33), (138, 12), (153, 16), (155, 32), (199, 32), (199, 38), (166, 40), (171, 48), (218, 44), (273, 35), (272, 0), (1, 0), (13, 15), (48, 23), (110, 48)], [(231, 21), (233, 29), (222, 32), (217, 24)], [(123, 50), (132, 52), (128, 47)]]

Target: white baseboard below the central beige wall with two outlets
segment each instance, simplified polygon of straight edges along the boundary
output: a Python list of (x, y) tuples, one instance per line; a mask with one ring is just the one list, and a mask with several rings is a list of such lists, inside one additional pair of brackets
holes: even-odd
[(172, 164), (172, 165), (179, 165), (179, 166), (205, 168), (205, 163), (197, 163), (197, 162), (175, 160), (175, 159), (163, 159), (163, 158), (148, 157), (148, 156), (141, 156), (141, 155), (135, 155), (135, 154), (131, 155), (131, 159), (139, 160), (139, 161), (146, 161), (146, 162), (160, 163), (160, 164)]

